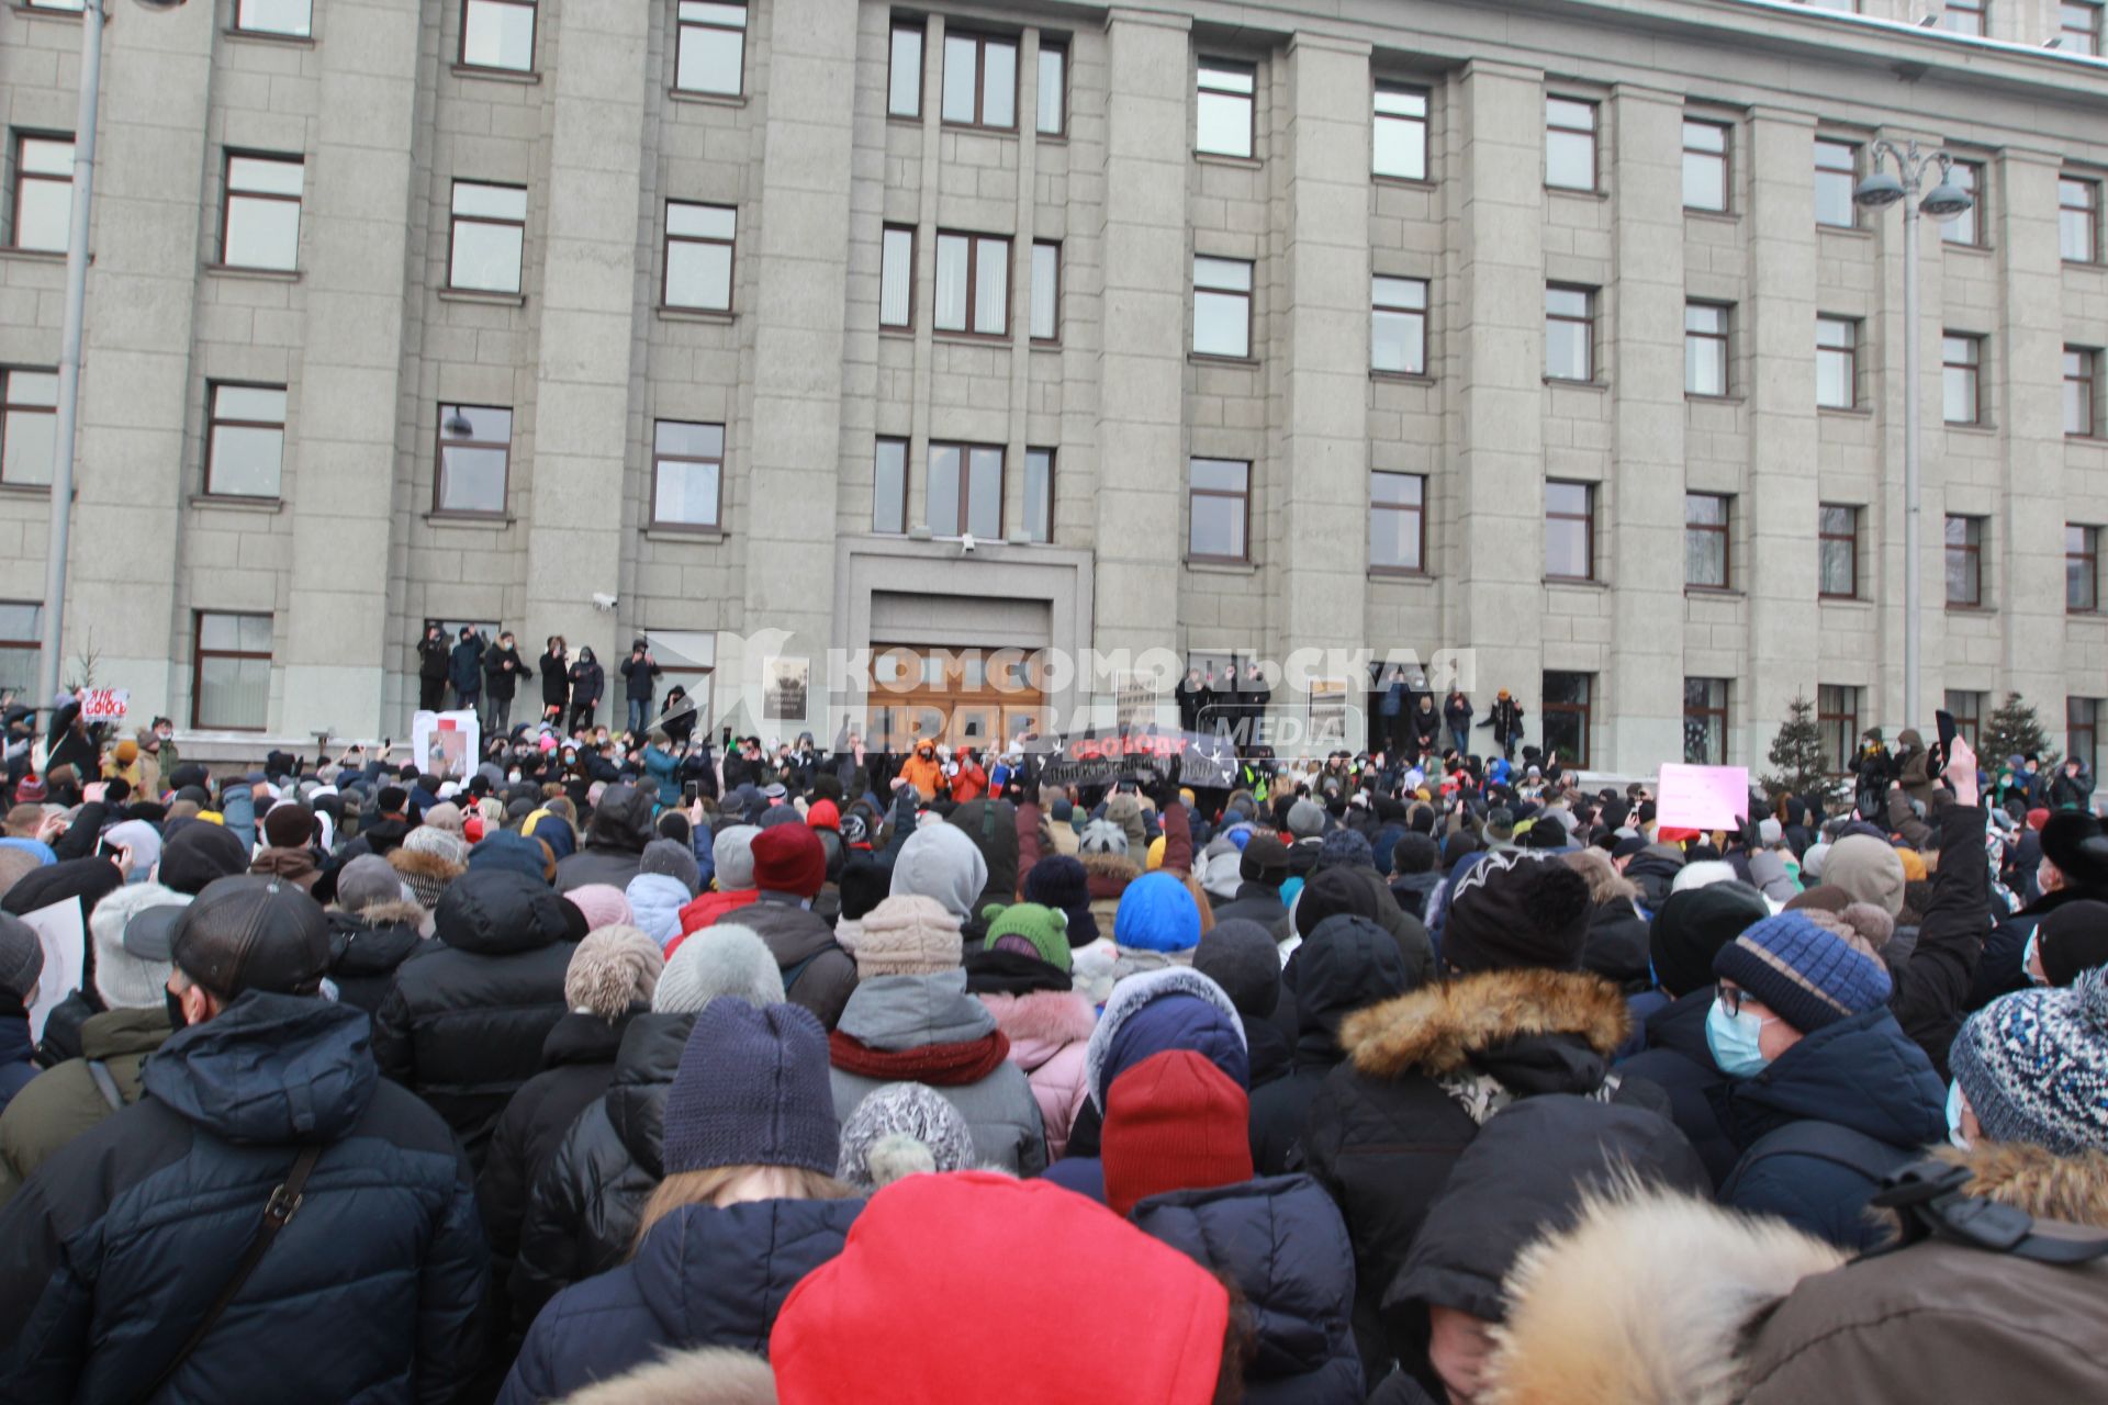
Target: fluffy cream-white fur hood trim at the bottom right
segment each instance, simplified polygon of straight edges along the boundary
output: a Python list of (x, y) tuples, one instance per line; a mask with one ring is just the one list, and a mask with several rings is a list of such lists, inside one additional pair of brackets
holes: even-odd
[(1844, 1251), (1670, 1190), (1592, 1196), (1503, 1283), (1482, 1405), (1731, 1405), (1745, 1331)]

